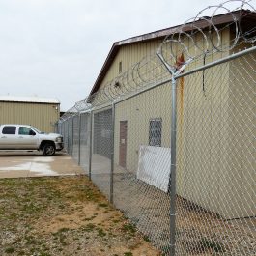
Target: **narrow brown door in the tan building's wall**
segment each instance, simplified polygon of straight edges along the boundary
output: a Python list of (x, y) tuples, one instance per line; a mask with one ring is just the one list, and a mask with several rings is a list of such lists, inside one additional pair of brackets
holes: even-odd
[(120, 121), (119, 165), (124, 168), (127, 164), (127, 133), (128, 121)]

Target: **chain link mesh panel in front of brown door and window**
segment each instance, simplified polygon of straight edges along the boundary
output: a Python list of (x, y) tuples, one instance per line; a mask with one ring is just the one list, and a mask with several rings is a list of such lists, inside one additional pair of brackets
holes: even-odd
[[(162, 100), (157, 100), (160, 97)], [(114, 205), (168, 250), (171, 84), (116, 104)]]

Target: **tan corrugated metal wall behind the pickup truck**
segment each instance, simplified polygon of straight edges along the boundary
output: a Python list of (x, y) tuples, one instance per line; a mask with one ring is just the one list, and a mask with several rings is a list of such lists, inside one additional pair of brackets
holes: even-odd
[(60, 117), (56, 103), (0, 101), (0, 124), (31, 125), (44, 132), (54, 132)]

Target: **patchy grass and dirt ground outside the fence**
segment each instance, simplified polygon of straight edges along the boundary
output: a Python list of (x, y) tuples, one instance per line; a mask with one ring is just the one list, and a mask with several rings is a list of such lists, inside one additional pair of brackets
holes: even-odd
[(156, 256), (83, 175), (0, 180), (0, 255)]

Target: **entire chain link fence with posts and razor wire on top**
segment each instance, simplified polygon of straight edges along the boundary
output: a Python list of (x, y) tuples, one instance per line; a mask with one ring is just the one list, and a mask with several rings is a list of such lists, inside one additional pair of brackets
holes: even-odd
[(256, 28), (242, 33), (235, 14), (221, 29), (204, 17), (210, 39), (178, 28), (58, 122), (67, 152), (162, 255), (256, 253)]

